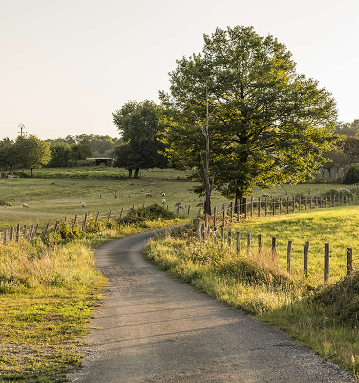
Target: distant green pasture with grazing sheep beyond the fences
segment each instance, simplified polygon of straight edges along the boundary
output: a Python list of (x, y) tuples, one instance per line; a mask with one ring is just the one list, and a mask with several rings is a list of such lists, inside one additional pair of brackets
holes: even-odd
[[(90, 170), (89, 170), (90, 169)], [(94, 169), (94, 170), (93, 170)], [(98, 170), (95, 170), (98, 169)], [(60, 171), (74, 172), (111, 172), (116, 168), (108, 167), (82, 167), (82, 168), (58, 168), (37, 169), (36, 173), (48, 173)], [(124, 169), (116, 169), (117, 172)], [(107, 212), (110, 209), (128, 209), (132, 205), (136, 207), (161, 203), (162, 192), (166, 194), (166, 205), (175, 210), (175, 202), (181, 201), (185, 209), (181, 214), (186, 215), (188, 205), (191, 206), (190, 216), (195, 217), (198, 213), (196, 205), (203, 201), (191, 190), (196, 183), (186, 181), (187, 172), (173, 169), (148, 169), (141, 171), (139, 179), (96, 179), (91, 178), (14, 178), (0, 179), (0, 200), (11, 201), (12, 208), (0, 206), (0, 231), (21, 224), (41, 224), (55, 221), (62, 217), (73, 217), (95, 213), (97, 211)], [(340, 188), (342, 185), (308, 184), (308, 185), (283, 185), (274, 191), (263, 191), (270, 195), (293, 195), (293, 194), (315, 194), (332, 188)], [(143, 192), (141, 192), (143, 188)], [(146, 198), (146, 192), (152, 194), (152, 198)], [(255, 197), (262, 194), (258, 188), (254, 190)], [(81, 208), (81, 202), (87, 204), (86, 209)], [(22, 207), (26, 202), (30, 208)], [(220, 208), (228, 204), (229, 200), (221, 197), (216, 191), (213, 193), (212, 207)]]

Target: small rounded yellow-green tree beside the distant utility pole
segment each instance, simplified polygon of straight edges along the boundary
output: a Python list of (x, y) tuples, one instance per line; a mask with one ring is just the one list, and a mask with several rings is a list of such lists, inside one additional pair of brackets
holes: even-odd
[(38, 139), (33, 134), (29, 136), (17, 136), (15, 141), (17, 164), (32, 170), (46, 165), (50, 161), (51, 150), (49, 145)]

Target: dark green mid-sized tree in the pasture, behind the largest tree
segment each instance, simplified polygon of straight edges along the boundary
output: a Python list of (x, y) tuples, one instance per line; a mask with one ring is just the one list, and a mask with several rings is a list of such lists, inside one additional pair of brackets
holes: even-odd
[[(115, 153), (119, 153), (115, 163), (131, 164), (131, 169), (126, 167), (129, 177), (132, 176), (133, 169), (134, 177), (138, 177), (140, 169), (166, 166), (166, 159), (159, 153), (164, 150), (164, 145), (158, 140), (158, 134), (162, 130), (158, 118), (160, 112), (154, 102), (145, 100), (129, 101), (112, 114), (113, 122), (126, 144), (115, 150)], [(128, 159), (124, 158), (125, 155)]]

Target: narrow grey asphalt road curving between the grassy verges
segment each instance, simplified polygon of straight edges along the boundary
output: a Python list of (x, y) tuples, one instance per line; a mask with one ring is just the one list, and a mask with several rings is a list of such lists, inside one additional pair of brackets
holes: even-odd
[(353, 382), (281, 331), (176, 282), (142, 257), (151, 231), (95, 253), (108, 278), (70, 381)]

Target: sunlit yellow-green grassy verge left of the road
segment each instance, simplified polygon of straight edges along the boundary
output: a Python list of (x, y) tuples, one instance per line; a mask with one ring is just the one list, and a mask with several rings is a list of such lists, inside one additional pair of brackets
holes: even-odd
[(122, 236), (181, 223), (142, 218), (121, 226), (101, 224), (98, 230), (92, 226), (71, 241), (74, 233), (62, 227), (45, 243), (36, 238), (0, 245), (0, 381), (64, 381), (66, 372), (81, 365), (77, 346), (106, 283), (94, 267), (93, 250)]

